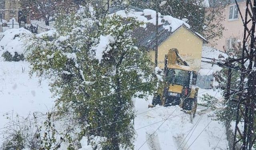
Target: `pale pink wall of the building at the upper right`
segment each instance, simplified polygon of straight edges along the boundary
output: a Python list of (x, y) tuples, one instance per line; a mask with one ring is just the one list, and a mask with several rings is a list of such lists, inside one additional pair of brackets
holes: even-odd
[[(238, 2), (238, 4), (244, 18), (246, 2)], [(241, 41), (243, 40), (244, 26), (243, 26), (240, 14), (238, 14), (238, 19), (234, 19), (234, 20), (228, 19), (230, 6), (232, 5), (235, 5), (235, 3), (232, 3), (226, 6), (224, 9), (225, 12), (223, 17), (225, 17), (225, 20), (222, 22), (222, 25), (225, 27), (225, 30), (223, 31), (222, 38), (218, 40), (218, 42), (216, 43), (217, 45), (215, 46), (216, 49), (221, 51), (224, 51), (224, 48), (228, 50), (227, 39), (236, 38), (237, 40), (241, 40)], [(210, 40), (209, 43), (215, 44), (213, 41), (214, 40)]]

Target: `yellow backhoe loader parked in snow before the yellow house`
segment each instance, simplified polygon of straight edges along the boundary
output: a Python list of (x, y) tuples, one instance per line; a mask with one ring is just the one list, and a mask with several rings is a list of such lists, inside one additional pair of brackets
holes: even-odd
[(182, 60), (176, 48), (169, 50), (164, 65), (164, 81), (158, 86), (152, 105), (180, 105), (194, 117), (198, 94), (195, 87), (197, 72)]

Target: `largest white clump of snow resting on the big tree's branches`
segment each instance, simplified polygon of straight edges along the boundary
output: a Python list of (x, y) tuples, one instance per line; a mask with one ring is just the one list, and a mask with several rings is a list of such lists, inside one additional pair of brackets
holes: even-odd
[(101, 62), (102, 57), (104, 54), (108, 53), (108, 51), (110, 50), (110, 43), (114, 42), (114, 37), (107, 35), (107, 36), (102, 36), (100, 35), (100, 41), (99, 43), (92, 48), (92, 50), (94, 50), (95, 52), (95, 56), (94, 58), (98, 59), (99, 62)]

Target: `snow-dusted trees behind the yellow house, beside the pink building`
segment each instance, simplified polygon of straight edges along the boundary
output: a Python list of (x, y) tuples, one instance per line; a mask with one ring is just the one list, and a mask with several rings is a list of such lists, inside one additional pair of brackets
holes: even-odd
[[(205, 0), (167, 0), (167, 4), (159, 8), (162, 15), (170, 15), (183, 19), (193, 31), (202, 34), (207, 40), (220, 38), (224, 26), (224, 7), (222, 2), (214, 1), (206, 8)], [(132, 0), (132, 5), (141, 8), (156, 9), (157, 0)]]

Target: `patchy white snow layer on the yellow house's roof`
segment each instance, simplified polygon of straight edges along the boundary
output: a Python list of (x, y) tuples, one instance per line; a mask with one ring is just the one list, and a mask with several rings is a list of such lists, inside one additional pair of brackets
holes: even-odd
[[(114, 14), (120, 15), (124, 18), (127, 18), (127, 17), (136, 18), (136, 20), (145, 23), (143, 25), (144, 28), (147, 27), (146, 23), (151, 23), (151, 24), (156, 25), (156, 11), (155, 10), (144, 9), (143, 12), (136, 12), (133, 9), (131, 9), (129, 11), (119, 10), (118, 12), (116, 12)], [(114, 14), (110, 14), (110, 16), (112, 16)], [(187, 24), (183, 20), (174, 18), (169, 15), (163, 16), (160, 13), (158, 13), (158, 25), (163, 25), (163, 28), (166, 30), (174, 32), (176, 29), (178, 29), (180, 26), (182, 26), (182, 24), (184, 24), (185, 26), (190, 28), (189, 24)]]

